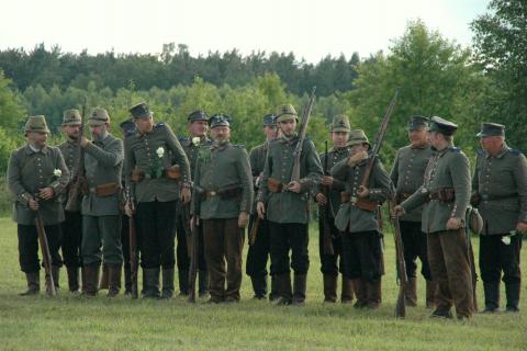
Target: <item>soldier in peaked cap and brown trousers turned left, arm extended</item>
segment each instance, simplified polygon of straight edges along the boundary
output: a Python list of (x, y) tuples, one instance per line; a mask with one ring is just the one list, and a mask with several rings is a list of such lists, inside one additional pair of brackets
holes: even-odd
[(441, 117), (430, 118), (429, 140), (434, 150), (424, 183), (395, 206), (400, 215), (423, 205), (422, 229), (427, 234), (428, 263), (438, 284), (431, 317), (470, 318), (473, 312), (472, 278), (464, 216), (470, 197), (470, 163), (453, 146), (458, 126)]

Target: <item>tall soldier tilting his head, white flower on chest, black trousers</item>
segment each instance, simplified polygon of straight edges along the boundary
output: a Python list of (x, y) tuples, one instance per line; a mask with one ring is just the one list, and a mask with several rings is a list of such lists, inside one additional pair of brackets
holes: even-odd
[(144, 297), (160, 297), (159, 272), (162, 268), (161, 297), (171, 298), (176, 264), (175, 214), (178, 199), (183, 203), (190, 201), (189, 160), (170, 127), (164, 123), (154, 124), (146, 103), (134, 105), (130, 112), (137, 132), (124, 139), (124, 174), (133, 196), (132, 204), (135, 201), (136, 206), (127, 202), (125, 210), (128, 216), (137, 212), (142, 293)]

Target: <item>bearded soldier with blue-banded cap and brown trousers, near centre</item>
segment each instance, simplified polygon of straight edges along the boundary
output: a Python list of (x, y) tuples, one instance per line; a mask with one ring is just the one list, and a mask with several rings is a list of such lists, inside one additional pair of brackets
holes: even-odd
[(192, 222), (203, 222), (210, 302), (236, 303), (242, 285), (244, 228), (253, 203), (249, 157), (243, 146), (231, 144), (228, 116), (214, 115), (210, 124), (214, 143), (198, 154), (192, 206), (197, 217)]

